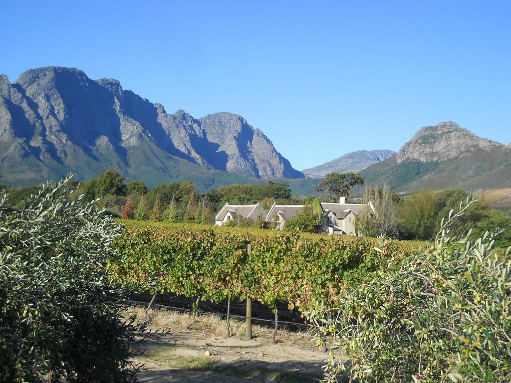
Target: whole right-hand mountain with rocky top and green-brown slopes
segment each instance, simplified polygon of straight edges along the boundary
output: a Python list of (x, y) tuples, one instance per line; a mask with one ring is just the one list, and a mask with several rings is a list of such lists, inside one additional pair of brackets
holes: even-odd
[[(366, 185), (387, 183), (396, 192), (511, 187), (511, 147), (480, 138), (453, 122), (439, 123), (420, 129), (396, 156), (360, 173)], [(354, 193), (361, 194), (362, 188)]]

